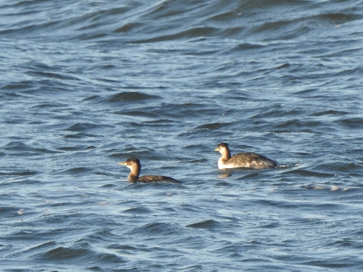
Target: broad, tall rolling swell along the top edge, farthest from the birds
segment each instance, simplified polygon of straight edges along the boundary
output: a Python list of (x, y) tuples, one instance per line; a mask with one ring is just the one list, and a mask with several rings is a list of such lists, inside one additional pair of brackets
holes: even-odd
[(355, 1), (334, 2), (333, 11), (330, 3), (313, 0), (184, 1), (182, 5), (175, 0), (121, 5), (59, 2), (57, 7), (15, 1), (0, 6), (3, 15), (13, 18), (0, 27), (0, 36), (149, 43), (268, 33), (271, 38), (286, 39), (362, 19)]

